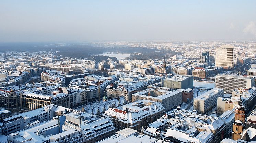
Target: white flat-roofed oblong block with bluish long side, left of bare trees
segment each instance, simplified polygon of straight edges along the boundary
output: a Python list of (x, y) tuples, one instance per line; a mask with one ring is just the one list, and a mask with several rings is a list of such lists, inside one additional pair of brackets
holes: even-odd
[(223, 97), (223, 95), (223, 89), (213, 88), (194, 98), (194, 109), (196, 109), (200, 114), (205, 114), (217, 105), (217, 98)]

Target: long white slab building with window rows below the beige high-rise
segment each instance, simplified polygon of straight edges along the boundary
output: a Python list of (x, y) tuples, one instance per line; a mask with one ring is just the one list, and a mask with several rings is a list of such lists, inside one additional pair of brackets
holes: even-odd
[(253, 77), (241, 75), (222, 75), (215, 76), (215, 87), (224, 89), (225, 93), (232, 93), (235, 89), (249, 89), (255, 86)]

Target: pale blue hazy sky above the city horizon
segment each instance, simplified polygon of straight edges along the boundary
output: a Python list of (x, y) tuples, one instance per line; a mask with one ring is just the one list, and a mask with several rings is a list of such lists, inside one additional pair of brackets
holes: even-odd
[(0, 42), (256, 40), (256, 0), (0, 0)]

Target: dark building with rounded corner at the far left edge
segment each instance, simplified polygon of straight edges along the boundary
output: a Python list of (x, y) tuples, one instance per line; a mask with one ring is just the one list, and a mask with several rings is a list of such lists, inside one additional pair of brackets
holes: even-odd
[(16, 94), (15, 90), (0, 90), (0, 107), (17, 108), (20, 105), (20, 94)]

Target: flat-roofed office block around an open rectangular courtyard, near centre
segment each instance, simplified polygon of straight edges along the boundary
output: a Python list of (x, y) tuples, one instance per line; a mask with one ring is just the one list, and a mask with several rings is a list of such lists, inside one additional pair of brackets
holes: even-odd
[(146, 89), (131, 95), (132, 102), (137, 100), (150, 100), (162, 103), (165, 110), (171, 110), (182, 103), (182, 91), (161, 90), (161, 89)]

